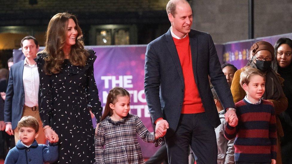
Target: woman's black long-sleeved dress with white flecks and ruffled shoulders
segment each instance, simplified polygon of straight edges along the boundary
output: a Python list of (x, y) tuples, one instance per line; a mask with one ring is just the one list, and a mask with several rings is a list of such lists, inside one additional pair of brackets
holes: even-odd
[(49, 125), (59, 136), (57, 163), (94, 163), (94, 130), (88, 106), (101, 117), (93, 63), (95, 52), (88, 50), (85, 67), (77, 67), (65, 59), (60, 73), (47, 75), (43, 71), (46, 53), (35, 61), (39, 71), (39, 115), (43, 126)]

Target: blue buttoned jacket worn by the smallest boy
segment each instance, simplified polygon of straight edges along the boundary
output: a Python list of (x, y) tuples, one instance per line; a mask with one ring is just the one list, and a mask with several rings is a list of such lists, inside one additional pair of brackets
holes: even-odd
[(30, 147), (26, 147), (19, 140), (12, 148), (5, 159), (4, 164), (43, 164), (53, 163), (58, 160), (58, 143), (44, 145), (37, 144), (34, 140)]

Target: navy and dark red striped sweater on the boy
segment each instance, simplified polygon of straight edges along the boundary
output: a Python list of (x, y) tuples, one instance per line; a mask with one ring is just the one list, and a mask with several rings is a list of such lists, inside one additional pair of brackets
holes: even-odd
[(276, 160), (277, 126), (273, 103), (262, 100), (260, 104), (248, 103), (245, 99), (237, 102), (238, 125), (227, 123), (224, 136), (235, 138), (237, 162), (271, 162)]

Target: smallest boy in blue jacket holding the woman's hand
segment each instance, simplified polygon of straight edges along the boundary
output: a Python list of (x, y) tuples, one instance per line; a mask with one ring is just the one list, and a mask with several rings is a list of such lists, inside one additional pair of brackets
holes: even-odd
[(38, 144), (39, 123), (32, 116), (25, 116), (17, 124), (20, 140), (12, 148), (5, 159), (4, 164), (43, 164), (53, 163), (58, 159), (58, 137), (52, 136), (54, 143), (49, 145)]

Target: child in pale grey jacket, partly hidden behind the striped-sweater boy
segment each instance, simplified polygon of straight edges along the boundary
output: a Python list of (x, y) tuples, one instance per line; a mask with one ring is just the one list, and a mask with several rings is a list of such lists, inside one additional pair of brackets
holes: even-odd
[(234, 139), (226, 140), (224, 137), (224, 128), (227, 124), (224, 116), (225, 110), (223, 109), (221, 102), (218, 99), (215, 89), (212, 88), (211, 91), (221, 121), (221, 124), (215, 128), (218, 147), (217, 164), (234, 164)]

